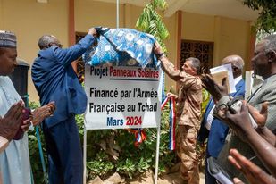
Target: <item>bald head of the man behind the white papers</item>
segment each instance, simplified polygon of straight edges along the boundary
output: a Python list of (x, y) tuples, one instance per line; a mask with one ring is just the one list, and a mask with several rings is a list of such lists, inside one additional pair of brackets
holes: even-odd
[(238, 78), (244, 68), (244, 60), (239, 55), (229, 55), (222, 59), (222, 64), (232, 64), (234, 78)]

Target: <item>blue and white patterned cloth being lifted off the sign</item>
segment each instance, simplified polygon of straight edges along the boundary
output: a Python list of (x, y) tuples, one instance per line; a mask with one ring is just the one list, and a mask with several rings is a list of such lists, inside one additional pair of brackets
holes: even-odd
[(97, 45), (83, 55), (85, 63), (100, 65), (113, 63), (117, 66), (158, 66), (153, 53), (155, 38), (135, 29), (96, 28), (100, 35)]

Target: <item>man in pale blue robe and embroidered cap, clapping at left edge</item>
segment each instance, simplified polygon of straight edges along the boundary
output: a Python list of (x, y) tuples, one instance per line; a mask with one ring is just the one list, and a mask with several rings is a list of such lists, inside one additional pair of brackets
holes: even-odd
[[(13, 71), (16, 63), (16, 36), (12, 32), (0, 31), (0, 116), (5, 117), (9, 109), (14, 105), (23, 106), (21, 96), (13, 87), (13, 82), (7, 75)], [(23, 125), (18, 125), (17, 129), (28, 130), (31, 120), (36, 125), (54, 111), (53, 103), (46, 105), (33, 113), (33, 118), (24, 121)], [(21, 108), (21, 113), (24, 113)], [(18, 116), (22, 121), (22, 116)], [(1, 118), (2, 120), (2, 118)], [(2, 123), (2, 121), (1, 121)], [(12, 128), (12, 127), (11, 127)], [(1, 135), (0, 135), (1, 136)], [(13, 134), (14, 136), (14, 134)], [(0, 153), (0, 173), (3, 184), (30, 184), (30, 164), (28, 135), (24, 133), (23, 138), (9, 140), (8, 146)], [(6, 145), (6, 144), (5, 144)], [(1, 180), (0, 180), (1, 183)]]

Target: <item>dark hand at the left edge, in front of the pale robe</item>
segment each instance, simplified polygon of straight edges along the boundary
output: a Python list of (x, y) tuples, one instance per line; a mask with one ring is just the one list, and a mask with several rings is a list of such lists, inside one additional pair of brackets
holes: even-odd
[[(19, 101), (12, 105), (9, 111), (2, 118), (0, 116), (0, 136), (11, 140), (20, 129), (23, 117), (24, 103)], [(26, 123), (28, 123), (26, 121)]]

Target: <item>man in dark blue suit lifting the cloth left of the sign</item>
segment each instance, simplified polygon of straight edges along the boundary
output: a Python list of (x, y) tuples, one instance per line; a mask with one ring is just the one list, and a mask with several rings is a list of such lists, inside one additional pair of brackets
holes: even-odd
[(95, 41), (96, 29), (88, 30), (78, 44), (63, 49), (51, 35), (38, 40), (40, 51), (31, 75), (41, 105), (54, 101), (54, 115), (43, 122), (49, 163), (49, 183), (82, 184), (83, 163), (75, 114), (84, 113), (87, 96), (71, 63)]

